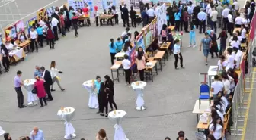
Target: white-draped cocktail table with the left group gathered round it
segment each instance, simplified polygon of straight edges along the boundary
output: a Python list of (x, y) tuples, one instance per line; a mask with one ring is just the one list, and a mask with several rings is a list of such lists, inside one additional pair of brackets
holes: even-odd
[(27, 90), (27, 106), (33, 107), (38, 104), (37, 94), (33, 94), (32, 90), (34, 89), (34, 82), (36, 79), (25, 79), (24, 88)]

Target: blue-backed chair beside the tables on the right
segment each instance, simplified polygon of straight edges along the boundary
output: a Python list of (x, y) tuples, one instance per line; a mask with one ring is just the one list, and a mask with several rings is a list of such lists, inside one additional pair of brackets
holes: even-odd
[(210, 107), (210, 88), (207, 84), (202, 84), (200, 86), (199, 109), (201, 107), (201, 100), (209, 100)]

